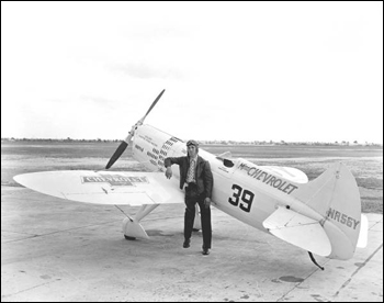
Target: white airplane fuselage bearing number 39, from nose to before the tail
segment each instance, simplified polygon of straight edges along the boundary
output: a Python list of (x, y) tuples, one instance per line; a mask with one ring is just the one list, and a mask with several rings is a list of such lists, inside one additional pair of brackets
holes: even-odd
[[(165, 171), (167, 157), (187, 156), (184, 142), (149, 125), (136, 130), (132, 148), (134, 158), (151, 171)], [(202, 148), (199, 155), (211, 165), (213, 205), (261, 231), (267, 232), (262, 222), (279, 205), (285, 206), (300, 186), (241, 158), (231, 159), (234, 165), (227, 167), (222, 158)], [(172, 167), (172, 172), (173, 178), (180, 178), (178, 167)]]

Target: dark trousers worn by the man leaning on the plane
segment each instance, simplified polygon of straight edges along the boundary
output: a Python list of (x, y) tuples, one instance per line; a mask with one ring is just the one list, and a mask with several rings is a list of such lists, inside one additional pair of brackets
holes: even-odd
[(185, 188), (185, 214), (184, 214), (184, 238), (190, 239), (192, 236), (193, 222), (195, 216), (195, 206), (199, 203), (202, 220), (203, 246), (211, 248), (212, 245), (212, 225), (211, 225), (211, 206), (204, 205), (204, 193), (199, 194), (195, 184), (189, 184)]

